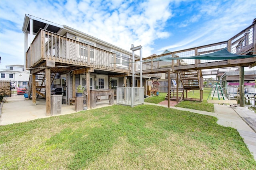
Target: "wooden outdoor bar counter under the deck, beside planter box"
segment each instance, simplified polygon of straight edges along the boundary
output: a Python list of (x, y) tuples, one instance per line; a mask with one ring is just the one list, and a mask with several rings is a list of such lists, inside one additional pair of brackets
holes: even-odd
[(114, 105), (114, 91), (115, 89), (90, 90), (90, 108), (96, 107), (97, 96), (108, 96), (109, 104)]

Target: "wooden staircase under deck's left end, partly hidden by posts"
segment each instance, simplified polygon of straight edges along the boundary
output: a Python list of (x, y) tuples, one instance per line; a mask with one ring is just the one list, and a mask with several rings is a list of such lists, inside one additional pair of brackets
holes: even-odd
[[(54, 80), (56, 73), (51, 73), (51, 84)], [(44, 72), (36, 74), (36, 98), (45, 98), (45, 74)], [(30, 75), (29, 81), (28, 81), (28, 98), (32, 98), (32, 76)]]

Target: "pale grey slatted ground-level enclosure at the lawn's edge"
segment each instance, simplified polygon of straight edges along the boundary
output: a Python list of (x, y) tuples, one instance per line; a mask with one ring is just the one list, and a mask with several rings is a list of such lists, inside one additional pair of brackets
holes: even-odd
[(144, 87), (117, 87), (116, 103), (134, 107), (144, 103)]

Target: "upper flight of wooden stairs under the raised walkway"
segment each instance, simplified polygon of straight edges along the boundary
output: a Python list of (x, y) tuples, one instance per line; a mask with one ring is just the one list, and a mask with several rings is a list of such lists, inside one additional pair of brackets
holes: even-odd
[(200, 90), (202, 88), (200, 78), (202, 78), (201, 70), (180, 71), (184, 90)]

